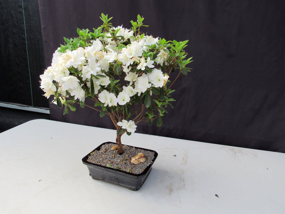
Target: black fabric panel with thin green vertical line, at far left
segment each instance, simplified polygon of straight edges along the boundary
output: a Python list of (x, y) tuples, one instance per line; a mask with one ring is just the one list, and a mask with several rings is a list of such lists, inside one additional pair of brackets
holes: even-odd
[(48, 108), (39, 88), (45, 57), (38, 1), (0, 1), (0, 11), (0, 101)]

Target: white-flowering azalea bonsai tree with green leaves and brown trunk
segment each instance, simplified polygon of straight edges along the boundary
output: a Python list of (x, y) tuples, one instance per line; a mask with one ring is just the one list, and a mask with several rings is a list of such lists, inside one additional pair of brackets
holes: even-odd
[[(162, 125), (166, 107), (172, 108), (171, 87), (181, 75), (187, 75), (184, 48), (187, 41), (166, 41), (141, 32), (147, 27), (140, 15), (131, 21), (132, 28), (113, 27), (108, 15), (101, 14), (98, 28), (77, 29), (78, 37), (64, 37), (53, 54), (53, 60), (41, 78), (44, 96), (54, 96), (64, 114), (75, 111), (79, 103), (110, 116), (117, 130), (116, 144), (122, 154), (121, 136), (131, 135), (137, 124), (156, 120)], [(172, 74), (174, 77), (169, 78)], [(170, 81), (172, 79), (172, 81)], [(91, 99), (94, 105), (85, 104)]]

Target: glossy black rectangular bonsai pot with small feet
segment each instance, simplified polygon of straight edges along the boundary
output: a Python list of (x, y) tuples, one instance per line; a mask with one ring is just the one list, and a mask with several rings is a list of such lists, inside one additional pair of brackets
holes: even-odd
[[(102, 143), (92, 152), (94, 152), (95, 150), (100, 150), (101, 146), (103, 146), (104, 144), (108, 144), (108, 143), (113, 143), (113, 142)], [(139, 147), (136, 147), (136, 148), (143, 149)], [(152, 160), (152, 163), (144, 170), (144, 172), (140, 174), (133, 174), (130, 172), (121, 171), (119, 169), (108, 168), (108, 167), (101, 166), (98, 164), (90, 163), (87, 161), (87, 159), (90, 156), (90, 153), (92, 152), (90, 152), (85, 157), (83, 157), (82, 162), (89, 169), (89, 175), (93, 179), (108, 181), (108, 182), (115, 183), (121, 186), (125, 186), (129, 188), (130, 190), (136, 191), (136, 190), (139, 190), (141, 186), (144, 184), (144, 181), (147, 179), (150, 171), (152, 170), (152, 164), (154, 163), (158, 155), (157, 152), (155, 152), (154, 150), (150, 150), (150, 149), (143, 149), (143, 150), (154, 152), (154, 158)]]

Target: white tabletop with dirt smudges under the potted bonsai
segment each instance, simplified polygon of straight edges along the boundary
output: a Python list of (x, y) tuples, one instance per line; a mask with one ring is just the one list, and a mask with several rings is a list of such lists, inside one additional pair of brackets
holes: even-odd
[(115, 135), (51, 120), (1, 133), (0, 213), (285, 213), (285, 153), (123, 135), (159, 154), (131, 191), (93, 180), (81, 161)]

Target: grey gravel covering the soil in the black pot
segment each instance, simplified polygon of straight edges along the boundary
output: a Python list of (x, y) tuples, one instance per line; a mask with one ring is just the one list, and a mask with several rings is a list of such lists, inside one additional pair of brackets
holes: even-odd
[[(133, 174), (142, 173), (144, 169), (152, 163), (154, 153), (151, 151), (123, 145), (124, 153), (119, 155), (117, 150), (111, 149), (115, 145), (115, 143), (110, 143), (101, 146), (100, 150), (94, 151), (87, 161), (93, 164), (116, 168), (125, 172), (131, 172)], [(144, 154), (146, 160), (143, 163), (132, 164), (130, 162), (131, 158), (140, 152)]]

